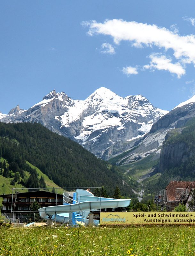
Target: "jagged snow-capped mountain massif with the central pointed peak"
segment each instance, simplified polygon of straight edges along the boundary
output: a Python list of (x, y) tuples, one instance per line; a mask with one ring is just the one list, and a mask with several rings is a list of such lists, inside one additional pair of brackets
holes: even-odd
[(101, 87), (86, 100), (73, 100), (54, 90), (28, 110), (17, 106), (8, 115), (0, 113), (0, 121), (41, 123), (77, 141), (96, 156), (108, 159), (115, 155), (114, 145), (122, 152), (166, 113), (140, 94), (122, 98)]

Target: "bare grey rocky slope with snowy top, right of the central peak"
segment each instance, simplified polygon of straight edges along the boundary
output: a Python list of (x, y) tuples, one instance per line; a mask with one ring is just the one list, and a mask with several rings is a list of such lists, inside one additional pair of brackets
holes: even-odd
[[(195, 116), (195, 96), (185, 102), (180, 103), (178, 106), (173, 108), (169, 113), (162, 116), (156, 123), (152, 125), (150, 132), (148, 132), (144, 138), (140, 141), (132, 141), (131, 152), (127, 152), (124, 157), (121, 157), (119, 162), (123, 164), (137, 161), (146, 156), (151, 155), (151, 160), (158, 158), (162, 159), (163, 154), (161, 147), (166, 135), (170, 130), (182, 128), (185, 126), (191, 118)], [(114, 145), (114, 149), (117, 145)], [(136, 147), (135, 147), (136, 146)], [(160, 165), (162, 161), (160, 161)], [(159, 167), (161, 168), (161, 167)], [(159, 169), (160, 170), (160, 169)]]

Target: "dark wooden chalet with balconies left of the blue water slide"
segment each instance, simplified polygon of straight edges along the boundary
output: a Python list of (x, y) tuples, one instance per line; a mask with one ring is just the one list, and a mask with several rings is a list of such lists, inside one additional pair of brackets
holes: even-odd
[(3, 209), (1, 212), (7, 218), (12, 219), (12, 222), (15, 222), (16, 220), (19, 222), (26, 222), (25, 220), (28, 219), (27, 217), (29, 217), (29, 214), (34, 213), (32, 211), (30, 212), (30, 205), (34, 202), (39, 203), (40, 207), (63, 204), (63, 195), (57, 194), (56, 202), (56, 193), (41, 190), (16, 193), (13, 195), (0, 195), (0, 197), (3, 197)]

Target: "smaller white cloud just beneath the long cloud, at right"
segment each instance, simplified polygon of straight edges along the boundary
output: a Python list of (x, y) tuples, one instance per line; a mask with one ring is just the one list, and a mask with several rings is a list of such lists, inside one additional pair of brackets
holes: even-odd
[(151, 54), (150, 56), (150, 64), (145, 65), (145, 69), (158, 69), (158, 70), (166, 70), (170, 73), (174, 73), (180, 78), (182, 75), (185, 74), (185, 69), (181, 66), (179, 62), (171, 63), (170, 59), (167, 59), (166, 56), (160, 54)]

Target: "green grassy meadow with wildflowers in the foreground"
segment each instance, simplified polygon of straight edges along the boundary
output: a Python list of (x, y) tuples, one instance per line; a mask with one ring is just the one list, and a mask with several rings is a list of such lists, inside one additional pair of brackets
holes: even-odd
[(195, 255), (194, 226), (0, 228), (0, 255)]

